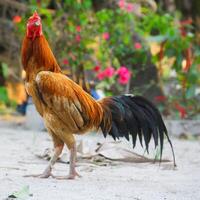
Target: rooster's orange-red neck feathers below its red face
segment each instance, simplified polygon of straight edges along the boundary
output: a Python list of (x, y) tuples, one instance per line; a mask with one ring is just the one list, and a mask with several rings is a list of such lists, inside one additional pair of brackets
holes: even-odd
[(22, 44), (22, 64), (27, 73), (27, 80), (30, 73), (38, 71), (61, 72), (61, 69), (49, 47), (45, 37), (36, 37), (33, 41), (25, 36)]

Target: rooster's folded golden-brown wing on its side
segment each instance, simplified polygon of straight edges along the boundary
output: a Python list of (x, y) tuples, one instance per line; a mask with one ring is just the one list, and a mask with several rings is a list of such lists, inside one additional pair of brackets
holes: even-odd
[(60, 73), (42, 71), (36, 83), (43, 100), (72, 132), (98, 128), (101, 106), (79, 85)]

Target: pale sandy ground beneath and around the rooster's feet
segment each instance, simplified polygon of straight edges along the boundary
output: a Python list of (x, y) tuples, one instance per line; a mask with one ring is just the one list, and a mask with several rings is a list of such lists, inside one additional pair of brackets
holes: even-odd
[[(30, 200), (198, 200), (200, 199), (200, 142), (173, 139), (177, 165), (171, 163), (123, 163), (108, 166), (80, 164), (76, 180), (25, 178), (42, 172), (47, 161), (39, 159), (51, 147), (44, 132), (0, 124), (0, 200), (29, 186)], [(83, 136), (83, 139), (97, 136)], [(98, 138), (98, 137), (97, 137)], [(139, 145), (138, 145), (139, 146)], [(165, 145), (164, 157), (171, 158)], [(54, 174), (67, 175), (68, 165), (57, 163)]]

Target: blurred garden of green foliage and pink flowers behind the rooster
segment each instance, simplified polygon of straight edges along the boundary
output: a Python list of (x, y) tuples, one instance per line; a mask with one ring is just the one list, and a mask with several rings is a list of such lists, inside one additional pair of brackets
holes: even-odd
[(199, 0), (0, 0), (1, 116), (32, 106), (20, 48), (35, 10), (63, 72), (94, 98), (144, 95), (190, 131), (200, 119)]

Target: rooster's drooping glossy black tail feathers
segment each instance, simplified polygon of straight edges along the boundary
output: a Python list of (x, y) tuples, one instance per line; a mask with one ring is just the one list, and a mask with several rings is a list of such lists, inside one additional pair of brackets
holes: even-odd
[[(150, 101), (141, 96), (122, 95), (105, 98), (100, 101), (100, 104), (105, 111), (109, 111), (112, 118), (110, 128), (105, 128), (109, 127), (105, 124), (106, 120), (102, 120), (100, 125), (105, 137), (109, 134), (114, 140), (125, 137), (129, 141), (131, 135), (134, 148), (138, 136), (141, 146), (143, 146), (142, 141), (144, 140), (147, 152), (149, 142), (153, 137), (155, 147), (160, 143), (161, 159), (165, 135), (171, 146), (174, 166), (176, 166), (174, 150), (166, 126), (159, 110)], [(108, 117), (107, 112), (104, 115)]]

